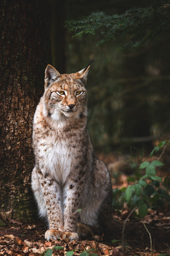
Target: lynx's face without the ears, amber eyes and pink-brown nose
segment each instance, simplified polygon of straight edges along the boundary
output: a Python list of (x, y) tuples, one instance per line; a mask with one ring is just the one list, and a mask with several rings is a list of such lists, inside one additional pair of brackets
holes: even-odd
[(86, 109), (87, 92), (83, 83), (71, 75), (63, 75), (47, 87), (45, 101), (48, 115), (77, 118)]

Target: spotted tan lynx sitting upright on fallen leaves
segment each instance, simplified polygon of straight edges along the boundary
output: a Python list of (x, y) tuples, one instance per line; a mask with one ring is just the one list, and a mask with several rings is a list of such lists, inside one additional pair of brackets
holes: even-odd
[(111, 215), (111, 178), (87, 130), (85, 84), (91, 62), (77, 73), (62, 75), (48, 65), (34, 115), (31, 184), (39, 215), (48, 222), (47, 240), (79, 240), (89, 229), (106, 227)]

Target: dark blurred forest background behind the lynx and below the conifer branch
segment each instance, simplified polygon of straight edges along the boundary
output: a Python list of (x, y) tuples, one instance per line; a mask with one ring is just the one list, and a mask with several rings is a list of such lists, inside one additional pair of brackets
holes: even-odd
[[(169, 34), (145, 46), (128, 48), (123, 45), (131, 35), (94, 47), (101, 39), (84, 35), (72, 39), (64, 28), (64, 20), (81, 20), (92, 12), (121, 14), (136, 7), (146, 8), (155, 1), (62, 1), (61, 31), (52, 6), (52, 56), (59, 72), (81, 70), (90, 59), (96, 62), (88, 75), (88, 128), (98, 152), (130, 151), (130, 146), (150, 151), (152, 142), (166, 139), (170, 125)], [(62, 34), (62, 41), (59, 40)], [(61, 51), (58, 49), (62, 49)]]

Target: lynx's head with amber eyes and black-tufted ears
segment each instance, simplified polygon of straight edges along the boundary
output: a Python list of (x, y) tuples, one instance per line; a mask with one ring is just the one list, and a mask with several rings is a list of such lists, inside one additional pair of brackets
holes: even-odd
[(54, 120), (61, 117), (81, 118), (87, 115), (87, 91), (85, 88), (88, 66), (74, 74), (61, 75), (48, 65), (45, 71), (44, 107), (46, 115)]

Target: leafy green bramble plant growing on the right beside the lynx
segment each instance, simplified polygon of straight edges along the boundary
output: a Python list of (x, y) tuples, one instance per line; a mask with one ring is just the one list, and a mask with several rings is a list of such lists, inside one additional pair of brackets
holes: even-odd
[[(164, 166), (160, 158), (169, 144), (170, 141), (167, 140), (154, 147), (150, 157), (153, 157), (154, 153), (158, 153), (160, 148), (163, 148), (162, 153), (157, 160), (141, 162), (138, 170), (135, 171), (138, 175), (127, 179), (129, 182), (133, 182), (133, 185), (129, 185), (126, 189), (113, 190), (115, 209), (121, 209), (126, 203), (130, 209), (138, 209), (138, 216), (142, 218), (147, 215), (148, 208), (157, 210), (160, 207), (163, 208), (165, 204), (170, 207), (170, 178), (166, 177), (163, 182), (161, 177), (156, 176), (156, 167)], [(136, 213), (134, 212), (134, 214)]]

